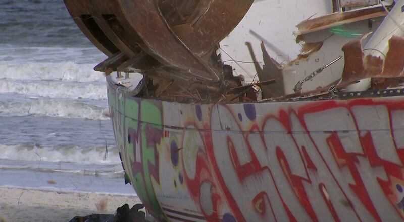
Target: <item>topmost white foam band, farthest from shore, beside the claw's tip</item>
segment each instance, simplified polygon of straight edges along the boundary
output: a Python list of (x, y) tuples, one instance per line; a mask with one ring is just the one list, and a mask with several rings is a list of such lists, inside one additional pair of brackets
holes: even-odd
[(0, 63), (0, 79), (12, 80), (61, 80), (75, 82), (105, 82), (103, 73), (93, 70), (94, 64), (75, 62), (57, 63)]

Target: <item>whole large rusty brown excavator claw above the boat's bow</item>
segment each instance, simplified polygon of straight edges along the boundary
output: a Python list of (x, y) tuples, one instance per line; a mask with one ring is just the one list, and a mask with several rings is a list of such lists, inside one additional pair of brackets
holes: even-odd
[(109, 58), (97, 71), (220, 82), (212, 54), (254, 0), (65, 0), (82, 32)]

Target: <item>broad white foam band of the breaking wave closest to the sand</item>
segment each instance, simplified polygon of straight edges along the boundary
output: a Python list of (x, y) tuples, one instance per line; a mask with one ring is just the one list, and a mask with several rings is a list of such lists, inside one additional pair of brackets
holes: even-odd
[(37, 162), (70, 162), (76, 164), (96, 165), (119, 165), (121, 163), (116, 149), (110, 149), (107, 159), (104, 160), (105, 150), (105, 147), (83, 148), (75, 146), (39, 148), (37, 146), (29, 145), (0, 145), (0, 159)]

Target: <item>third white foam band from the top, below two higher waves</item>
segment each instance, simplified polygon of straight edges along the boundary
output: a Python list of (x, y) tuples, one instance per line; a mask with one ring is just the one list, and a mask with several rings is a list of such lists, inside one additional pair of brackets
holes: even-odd
[(79, 101), (39, 98), (26, 102), (0, 102), (0, 116), (54, 116), (63, 118), (109, 119), (108, 108)]

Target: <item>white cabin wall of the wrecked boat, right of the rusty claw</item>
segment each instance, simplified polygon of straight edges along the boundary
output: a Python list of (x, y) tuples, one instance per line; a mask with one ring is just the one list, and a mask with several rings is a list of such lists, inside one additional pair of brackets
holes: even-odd
[[(251, 82), (257, 71), (246, 42), (252, 44), (261, 66), (263, 58), (260, 44), (263, 40), (271, 57), (279, 63), (288, 63), (297, 57), (300, 50), (293, 36), (293, 32), (297, 31), (296, 25), (309, 17), (328, 13), (332, 13), (331, 0), (256, 0), (240, 24), (220, 43), (222, 60), (242, 61), (225, 64), (235, 69), (235, 75), (241, 74), (246, 82)], [(250, 31), (256, 32), (263, 39), (257, 38)]]

